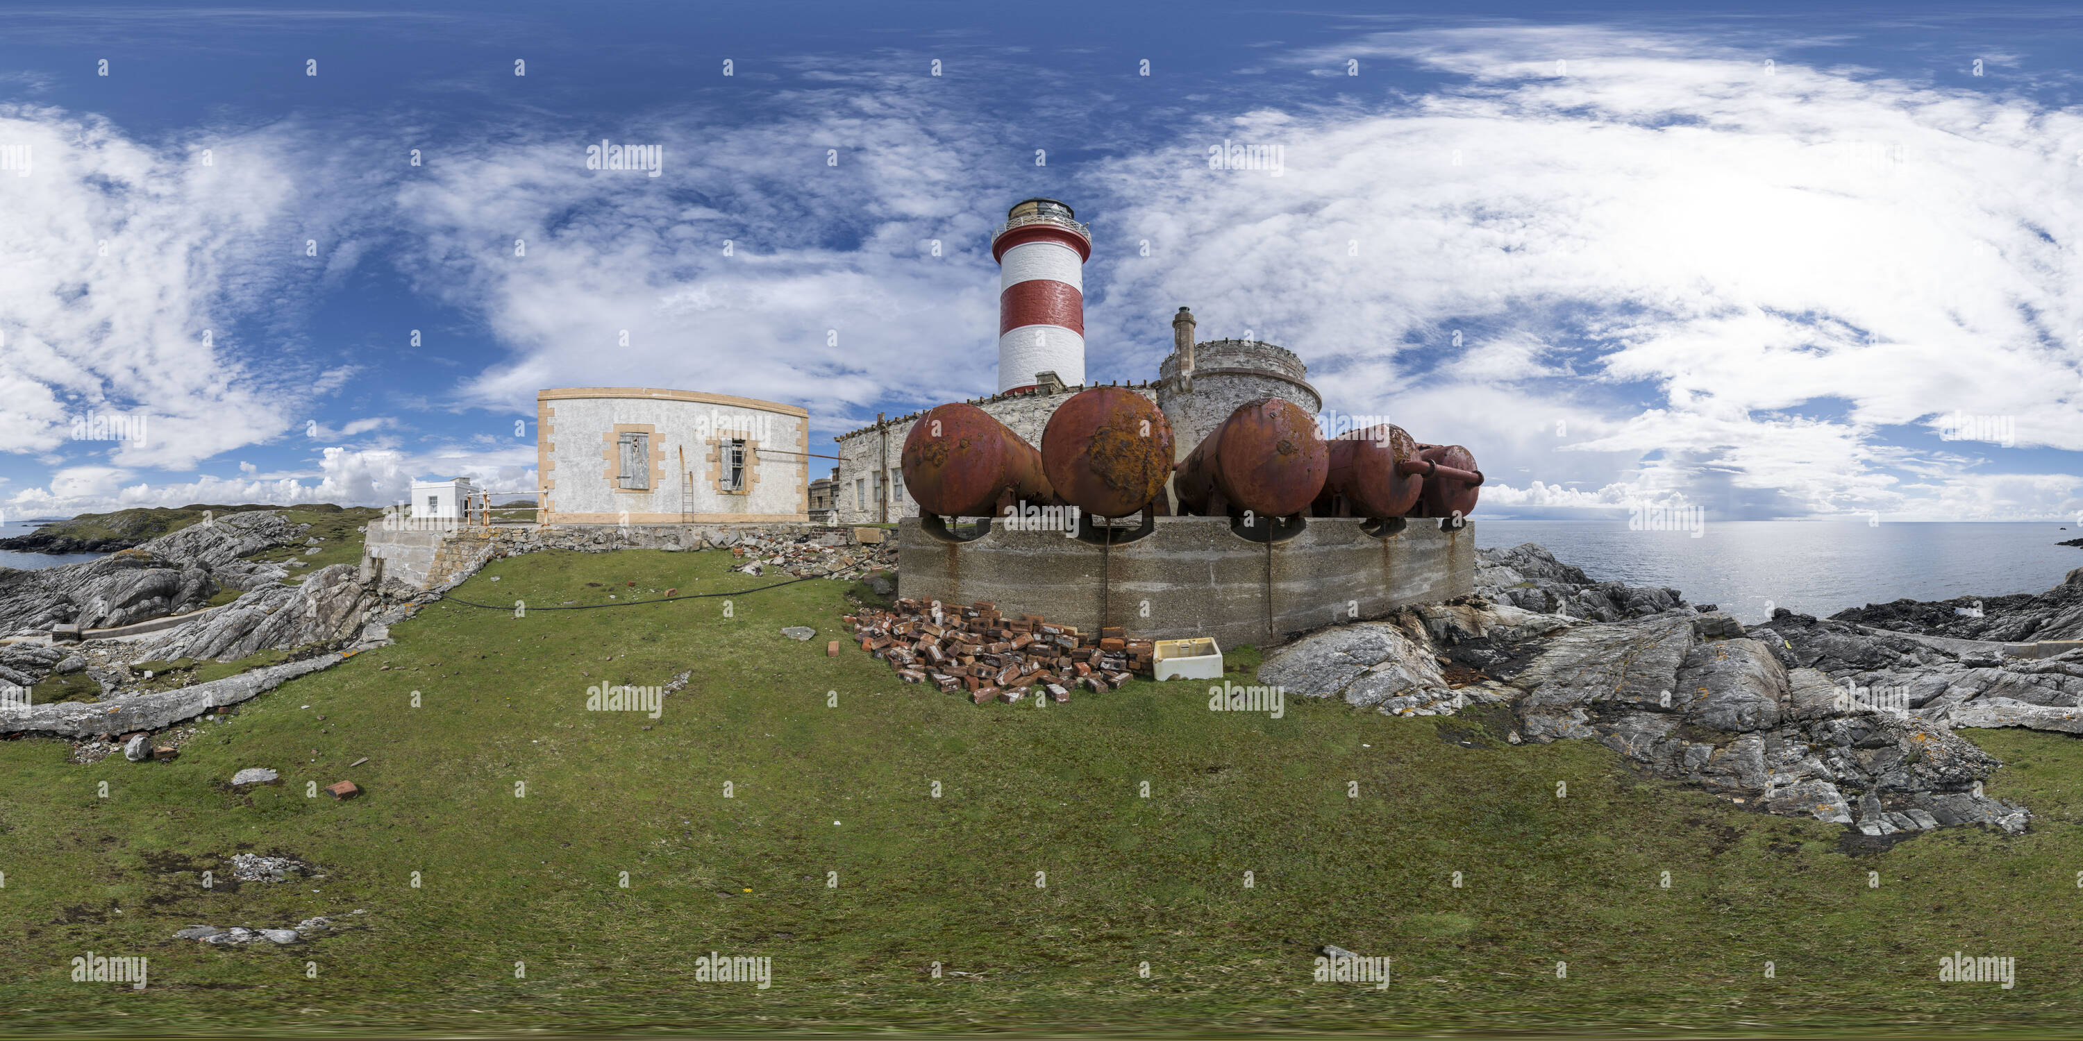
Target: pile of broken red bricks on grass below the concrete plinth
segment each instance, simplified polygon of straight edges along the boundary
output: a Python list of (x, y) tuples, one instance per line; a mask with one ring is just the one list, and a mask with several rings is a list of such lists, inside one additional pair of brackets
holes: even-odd
[(1114, 627), (1079, 633), (1039, 614), (1006, 618), (981, 600), (967, 608), (898, 600), (894, 610), (848, 614), (846, 620), (860, 650), (889, 662), (904, 683), (931, 683), (948, 693), (967, 689), (979, 706), (1017, 704), (1029, 693), (1069, 702), (1071, 687), (1106, 693), (1135, 675), (1150, 675), (1148, 639), (1129, 639)]

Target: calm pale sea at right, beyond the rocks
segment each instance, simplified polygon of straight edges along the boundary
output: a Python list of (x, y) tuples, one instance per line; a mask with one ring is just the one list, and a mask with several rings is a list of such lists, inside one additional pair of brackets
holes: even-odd
[(2083, 537), (2060, 523), (1729, 520), (1629, 531), (1614, 520), (1471, 518), (1479, 548), (1537, 541), (1593, 581), (1664, 585), (1754, 625), (1775, 608), (1827, 618), (1889, 600), (2043, 593), (2073, 568)]

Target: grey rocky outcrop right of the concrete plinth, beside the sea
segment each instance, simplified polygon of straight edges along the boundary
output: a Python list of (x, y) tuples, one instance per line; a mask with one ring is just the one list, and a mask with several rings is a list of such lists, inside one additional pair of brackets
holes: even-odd
[(2083, 733), (2083, 652), (2004, 660), (1785, 610), (1746, 631), (1533, 543), (1485, 550), (1477, 587), (1312, 633), (1258, 677), (1404, 716), (1504, 704), (1512, 741), (1600, 741), (1646, 775), (1866, 835), (2023, 831), (2023, 806), (1981, 791), (2002, 762), (1954, 727)]

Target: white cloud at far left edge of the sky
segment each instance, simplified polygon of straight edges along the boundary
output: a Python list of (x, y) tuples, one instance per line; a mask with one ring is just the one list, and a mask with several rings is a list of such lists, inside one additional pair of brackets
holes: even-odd
[(185, 468), (277, 433), (298, 362), (256, 369), (233, 327), (302, 277), (269, 235), (294, 198), (279, 135), (154, 148), (0, 106), (0, 139), (31, 156), (27, 177), (0, 177), (0, 452), (54, 450), (83, 412), (148, 416), (119, 466)]

